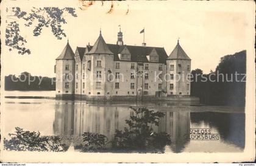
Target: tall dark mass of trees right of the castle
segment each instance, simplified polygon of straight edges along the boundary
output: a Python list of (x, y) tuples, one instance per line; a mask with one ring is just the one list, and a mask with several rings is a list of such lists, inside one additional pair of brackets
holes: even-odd
[[(245, 104), (246, 50), (222, 57), (215, 72), (203, 74), (201, 69), (195, 69), (191, 73), (191, 95), (199, 97), (201, 103), (241, 106)], [(197, 81), (194, 79), (196, 75), (201, 75), (197, 77)]]

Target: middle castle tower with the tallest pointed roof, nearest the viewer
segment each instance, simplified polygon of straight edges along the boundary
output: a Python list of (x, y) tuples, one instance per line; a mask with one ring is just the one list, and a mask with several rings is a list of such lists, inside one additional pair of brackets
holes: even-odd
[(87, 79), (82, 80), (85, 85), (82, 95), (90, 97), (112, 95), (113, 83), (108, 75), (113, 71), (113, 52), (105, 43), (101, 31), (99, 37), (89, 52), (85, 54)]

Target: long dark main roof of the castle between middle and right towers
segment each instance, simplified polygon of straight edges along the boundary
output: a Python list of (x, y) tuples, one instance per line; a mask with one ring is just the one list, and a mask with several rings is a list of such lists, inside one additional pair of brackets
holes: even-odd
[(117, 44), (107, 44), (107, 46), (113, 52), (115, 61), (119, 61), (118, 54), (121, 53), (125, 47), (127, 47), (131, 54), (131, 61), (149, 62), (146, 55), (149, 55), (153, 49), (155, 49), (159, 55), (159, 63), (166, 63), (166, 58), (168, 58), (163, 47), (119, 46)]

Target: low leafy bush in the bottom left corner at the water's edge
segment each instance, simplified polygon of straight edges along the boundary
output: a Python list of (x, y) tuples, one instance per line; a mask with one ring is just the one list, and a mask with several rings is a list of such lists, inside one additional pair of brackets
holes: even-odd
[(65, 144), (61, 144), (58, 136), (40, 136), (40, 132), (24, 131), (15, 128), (15, 134), (9, 134), (9, 140), (4, 138), (5, 150), (16, 151), (66, 151)]

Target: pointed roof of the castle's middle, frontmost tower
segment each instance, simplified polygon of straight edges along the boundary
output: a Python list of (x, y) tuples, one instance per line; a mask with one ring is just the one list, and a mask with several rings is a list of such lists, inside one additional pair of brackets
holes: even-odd
[(101, 33), (99, 33), (99, 38), (93, 45), (93, 48), (87, 54), (113, 54), (108, 49), (107, 44), (105, 43)]

